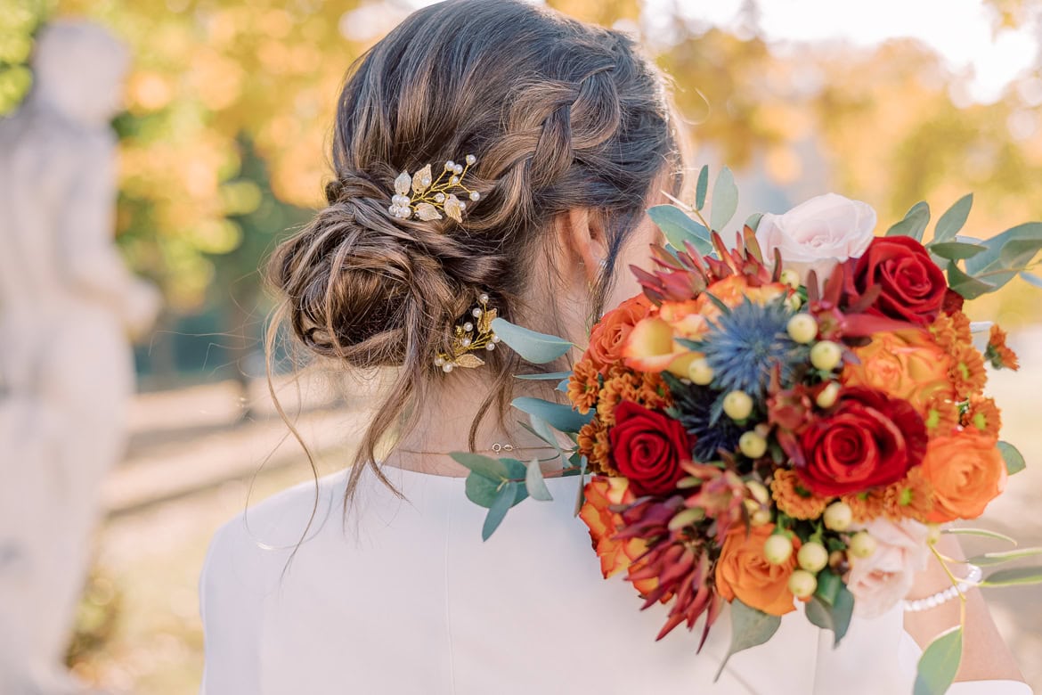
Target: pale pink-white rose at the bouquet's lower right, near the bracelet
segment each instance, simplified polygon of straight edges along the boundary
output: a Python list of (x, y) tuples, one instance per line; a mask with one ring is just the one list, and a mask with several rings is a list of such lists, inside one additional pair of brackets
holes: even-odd
[(929, 531), (910, 519), (900, 523), (875, 519), (865, 530), (875, 539), (875, 552), (864, 559), (851, 556), (846, 581), (854, 613), (876, 618), (908, 596), (915, 573), (926, 568)]

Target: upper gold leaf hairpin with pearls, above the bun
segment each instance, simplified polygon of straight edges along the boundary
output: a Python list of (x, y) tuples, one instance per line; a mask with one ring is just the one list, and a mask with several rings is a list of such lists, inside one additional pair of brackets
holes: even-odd
[[(442, 215), (438, 210), (443, 210), (456, 222), (463, 222), (467, 203), (460, 200), (456, 193), (467, 194), (465, 197), (474, 202), (481, 199), (477, 191), (471, 191), (463, 182), (470, 168), (477, 164), (477, 158), (473, 154), (468, 154), (464, 162), (467, 163), (466, 166), (449, 159), (436, 179), (431, 179), (433, 174), (430, 173), (430, 165), (412, 176), (407, 171), (401, 172), (394, 180), (395, 195), (391, 197), (388, 212), (402, 220), (412, 217), (420, 220), (440, 220)], [(413, 194), (412, 198), (410, 192)]]

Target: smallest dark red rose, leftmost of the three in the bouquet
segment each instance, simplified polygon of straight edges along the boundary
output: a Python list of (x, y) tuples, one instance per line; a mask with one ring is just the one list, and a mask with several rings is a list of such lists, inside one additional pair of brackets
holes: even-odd
[(684, 425), (628, 400), (616, 406), (615, 422), (609, 432), (612, 457), (634, 493), (664, 495), (676, 489), (687, 475), (680, 462), (691, 461), (694, 439)]

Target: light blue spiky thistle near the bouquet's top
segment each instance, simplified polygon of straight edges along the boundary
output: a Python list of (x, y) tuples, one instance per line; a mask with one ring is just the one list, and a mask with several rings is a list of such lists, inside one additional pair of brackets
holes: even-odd
[(723, 393), (744, 391), (759, 400), (766, 395), (775, 367), (780, 368), (782, 384), (791, 384), (795, 366), (807, 361), (808, 348), (786, 330), (793, 311), (785, 300), (756, 304), (744, 298), (734, 308), (720, 307), (721, 316), (701, 340), (686, 341), (705, 355), (715, 375), (713, 387)]

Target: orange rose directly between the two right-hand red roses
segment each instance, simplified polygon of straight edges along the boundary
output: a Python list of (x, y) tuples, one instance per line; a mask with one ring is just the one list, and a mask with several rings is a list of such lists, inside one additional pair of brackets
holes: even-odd
[(951, 357), (926, 330), (874, 333), (871, 343), (853, 352), (861, 364), (843, 368), (846, 386), (877, 389), (907, 400), (924, 418), (932, 399), (954, 398), (948, 377)]

